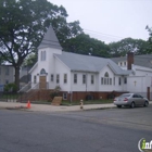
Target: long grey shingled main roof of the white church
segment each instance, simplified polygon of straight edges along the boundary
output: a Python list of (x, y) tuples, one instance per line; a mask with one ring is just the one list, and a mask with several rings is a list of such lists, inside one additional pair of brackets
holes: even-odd
[(117, 75), (128, 75), (130, 73), (129, 71), (122, 69), (111, 59), (81, 55), (69, 52), (62, 52), (62, 54), (54, 55), (60, 59), (66, 66), (68, 66), (71, 71), (99, 73), (103, 67), (109, 65), (111, 69)]

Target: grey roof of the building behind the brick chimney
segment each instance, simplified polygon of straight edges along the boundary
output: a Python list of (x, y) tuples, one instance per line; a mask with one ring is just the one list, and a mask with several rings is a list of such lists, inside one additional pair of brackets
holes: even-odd
[[(112, 58), (116, 64), (121, 61), (127, 61), (127, 56)], [(152, 68), (152, 54), (134, 55), (134, 64)]]

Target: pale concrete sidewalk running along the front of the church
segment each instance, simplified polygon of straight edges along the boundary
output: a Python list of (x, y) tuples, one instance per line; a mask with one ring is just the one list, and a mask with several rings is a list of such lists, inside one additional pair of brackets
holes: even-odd
[[(150, 101), (152, 104), (152, 101)], [(0, 109), (10, 109), (10, 110), (25, 110), (30, 112), (71, 112), (71, 111), (83, 111), (83, 110), (97, 110), (97, 109), (112, 109), (116, 107), (113, 103), (107, 104), (85, 104), (84, 109), (80, 109), (80, 105), (51, 105), (51, 104), (30, 104), (30, 109), (24, 109), (27, 106), (27, 103), (20, 102), (0, 102)]]

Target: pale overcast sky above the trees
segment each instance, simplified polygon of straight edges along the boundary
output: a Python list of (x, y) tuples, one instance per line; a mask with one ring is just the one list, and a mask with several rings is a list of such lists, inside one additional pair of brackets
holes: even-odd
[(91, 37), (106, 43), (131, 37), (147, 40), (152, 27), (152, 0), (48, 0), (63, 5), (67, 22), (79, 21)]

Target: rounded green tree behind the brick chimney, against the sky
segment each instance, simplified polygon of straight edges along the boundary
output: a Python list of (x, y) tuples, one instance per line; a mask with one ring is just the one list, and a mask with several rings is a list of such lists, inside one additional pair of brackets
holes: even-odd
[(127, 52), (135, 52), (135, 54), (148, 53), (148, 42), (142, 39), (125, 38), (117, 42), (111, 42), (109, 47), (113, 56), (124, 56)]

